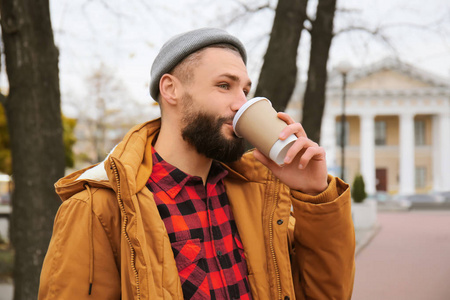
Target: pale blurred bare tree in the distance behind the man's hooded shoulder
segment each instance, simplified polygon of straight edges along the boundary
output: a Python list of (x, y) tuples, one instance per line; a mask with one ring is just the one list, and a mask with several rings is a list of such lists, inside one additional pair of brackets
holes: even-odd
[(152, 117), (151, 103), (138, 103), (115, 74), (101, 64), (86, 78), (87, 94), (72, 99), (80, 164), (102, 161), (132, 126)]

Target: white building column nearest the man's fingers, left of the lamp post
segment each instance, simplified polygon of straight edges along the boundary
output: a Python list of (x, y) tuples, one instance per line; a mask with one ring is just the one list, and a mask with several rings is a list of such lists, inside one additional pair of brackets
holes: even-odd
[(338, 176), (336, 163), (336, 116), (332, 114), (325, 114), (322, 118), (320, 146), (327, 153), (328, 172), (333, 176)]

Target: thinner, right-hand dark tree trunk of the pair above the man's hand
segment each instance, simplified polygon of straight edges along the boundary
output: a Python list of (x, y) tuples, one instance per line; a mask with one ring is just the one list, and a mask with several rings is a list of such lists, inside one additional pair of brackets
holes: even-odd
[(325, 106), (327, 62), (333, 38), (336, 0), (319, 0), (316, 19), (312, 23), (308, 82), (303, 97), (302, 125), (315, 142), (320, 141), (322, 115)]

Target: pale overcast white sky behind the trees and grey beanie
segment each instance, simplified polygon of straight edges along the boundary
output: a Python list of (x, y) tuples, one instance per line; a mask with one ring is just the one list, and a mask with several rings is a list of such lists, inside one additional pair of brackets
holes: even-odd
[[(254, 9), (245, 13), (241, 3)], [(150, 67), (162, 44), (187, 30), (211, 26), (226, 29), (247, 48), (253, 81), (269, 41), (276, 0), (50, 0), (55, 43), (60, 49), (63, 111), (87, 99), (89, 76), (100, 67), (121, 83), (122, 95), (152, 110), (148, 92)], [(424, 5), (426, 3), (426, 5)], [(317, 0), (310, 0), (313, 16)], [(417, 68), (450, 82), (450, 1), (338, 0), (337, 32), (328, 62), (354, 68), (396, 54)], [(348, 30), (349, 28), (368, 30)], [(367, 31), (377, 31), (374, 37)], [(309, 35), (302, 34), (299, 74), (305, 79)], [(256, 85), (254, 85), (256, 86)], [(123, 96), (121, 96), (123, 97)], [(70, 105), (69, 105), (70, 104)], [(76, 113), (75, 113), (76, 114)]]

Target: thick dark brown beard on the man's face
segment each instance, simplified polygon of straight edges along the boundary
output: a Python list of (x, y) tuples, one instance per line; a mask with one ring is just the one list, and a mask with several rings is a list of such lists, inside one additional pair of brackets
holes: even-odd
[(223, 163), (239, 160), (245, 152), (244, 140), (234, 133), (227, 138), (222, 133), (223, 125), (233, 121), (233, 116), (218, 117), (201, 111), (193, 111), (192, 96), (183, 97), (184, 127), (181, 130), (183, 140), (192, 145), (199, 154)]

